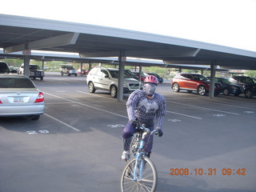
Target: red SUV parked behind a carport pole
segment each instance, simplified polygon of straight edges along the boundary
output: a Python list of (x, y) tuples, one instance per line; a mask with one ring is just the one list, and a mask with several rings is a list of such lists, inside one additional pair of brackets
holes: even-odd
[[(186, 90), (189, 93), (192, 91), (197, 91), (200, 95), (206, 95), (210, 89), (210, 81), (201, 74), (177, 74), (171, 80), (171, 88), (174, 92), (179, 92), (180, 90)], [(215, 82), (214, 95), (218, 95), (222, 92), (222, 85)]]

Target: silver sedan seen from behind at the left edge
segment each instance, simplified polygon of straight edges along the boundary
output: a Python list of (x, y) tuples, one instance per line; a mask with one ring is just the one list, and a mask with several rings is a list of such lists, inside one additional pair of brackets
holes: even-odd
[(0, 74), (0, 117), (29, 116), (38, 120), (45, 110), (43, 93), (24, 75)]

